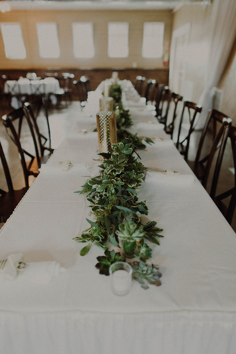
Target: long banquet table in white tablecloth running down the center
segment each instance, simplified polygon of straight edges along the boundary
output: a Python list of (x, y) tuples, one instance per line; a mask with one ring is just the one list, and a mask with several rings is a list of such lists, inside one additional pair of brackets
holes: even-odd
[[(156, 118), (142, 104), (126, 104), (133, 132), (163, 138), (140, 152), (144, 166), (192, 174)], [(235, 353), (236, 235), (196, 177), (186, 185), (144, 182), (139, 192), (148, 219), (165, 236), (160, 246), (152, 245), (161, 286), (144, 290), (133, 282), (128, 295), (118, 297), (109, 277), (94, 267), (103, 250), (92, 246), (79, 255), (85, 244), (73, 238), (89, 227), (89, 209), (85, 196), (73, 192), (83, 176), (97, 173), (95, 110), (88, 104), (78, 116), (1, 229), (0, 259), (21, 252), (26, 262), (57, 261), (66, 270), (45, 284), (22, 274), (14, 281), (0, 277), (0, 352)], [(150, 129), (142, 124), (148, 121)], [(68, 159), (69, 171), (57, 167)]]

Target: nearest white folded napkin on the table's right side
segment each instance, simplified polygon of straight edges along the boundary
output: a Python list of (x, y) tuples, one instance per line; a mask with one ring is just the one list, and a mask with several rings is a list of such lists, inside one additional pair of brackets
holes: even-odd
[(147, 171), (145, 182), (185, 186), (194, 183), (194, 175), (180, 174), (178, 171)]

